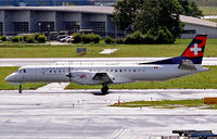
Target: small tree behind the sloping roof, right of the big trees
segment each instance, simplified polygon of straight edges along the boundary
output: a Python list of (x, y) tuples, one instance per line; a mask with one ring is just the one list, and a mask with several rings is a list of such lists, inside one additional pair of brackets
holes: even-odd
[(182, 14), (188, 16), (203, 16), (203, 12), (197, 8), (196, 3), (194, 1), (189, 0), (178, 0), (179, 3), (182, 5)]

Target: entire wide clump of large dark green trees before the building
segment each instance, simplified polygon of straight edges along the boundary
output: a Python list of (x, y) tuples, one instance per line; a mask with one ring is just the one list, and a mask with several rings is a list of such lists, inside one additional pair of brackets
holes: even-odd
[[(158, 27), (166, 27), (174, 38), (179, 37), (183, 24), (179, 20), (182, 8), (177, 0), (119, 0), (114, 21), (122, 28), (157, 36)], [(174, 39), (175, 40), (175, 39)]]

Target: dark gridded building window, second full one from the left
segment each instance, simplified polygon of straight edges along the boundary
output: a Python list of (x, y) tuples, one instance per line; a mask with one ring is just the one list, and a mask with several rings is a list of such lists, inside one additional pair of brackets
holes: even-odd
[(54, 22), (39, 22), (39, 31), (54, 31)]

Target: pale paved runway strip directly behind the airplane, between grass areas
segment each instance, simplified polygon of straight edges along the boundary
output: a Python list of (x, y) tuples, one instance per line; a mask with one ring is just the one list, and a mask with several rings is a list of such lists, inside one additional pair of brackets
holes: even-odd
[[(53, 64), (137, 64), (168, 58), (84, 58), (84, 59), (0, 59), (0, 66), (53, 65)], [(204, 58), (203, 65), (217, 65), (217, 58)]]

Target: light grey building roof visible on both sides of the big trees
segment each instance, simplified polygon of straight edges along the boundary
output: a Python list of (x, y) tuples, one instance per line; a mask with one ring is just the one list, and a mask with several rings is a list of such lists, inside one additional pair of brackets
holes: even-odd
[[(1, 7), (0, 10), (34, 10), (34, 11), (59, 11), (59, 12), (80, 12), (80, 13), (98, 13), (112, 15), (114, 7), (97, 7), (97, 5), (74, 5), (74, 7)], [(183, 23), (217, 27), (217, 23), (201, 20), (197, 17), (191, 17), (180, 15), (180, 20)]]

